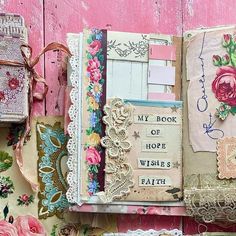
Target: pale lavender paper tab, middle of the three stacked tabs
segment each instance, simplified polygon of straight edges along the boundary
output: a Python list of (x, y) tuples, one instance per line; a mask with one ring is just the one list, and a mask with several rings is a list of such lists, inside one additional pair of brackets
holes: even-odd
[(151, 65), (149, 67), (148, 83), (175, 85), (175, 67)]

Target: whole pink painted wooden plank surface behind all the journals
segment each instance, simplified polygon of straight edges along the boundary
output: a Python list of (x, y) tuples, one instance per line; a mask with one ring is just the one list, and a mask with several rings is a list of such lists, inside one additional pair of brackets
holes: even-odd
[[(79, 32), (84, 27), (181, 36), (189, 29), (236, 23), (235, 0), (0, 0), (0, 12), (25, 18), (34, 53), (51, 41), (65, 43), (67, 32)], [(35, 105), (34, 114), (63, 115), (66, 81), (57, 54), (48, 53), (37, 67), (50, 89), (46, 101)], [(136, 226), (171, 229), (180, 224), (187, 234), (205, 230), (180, 217), (121, 215), (118, 220), (123, 232)], [(225, 229), (209, 225), (208, 230)]]

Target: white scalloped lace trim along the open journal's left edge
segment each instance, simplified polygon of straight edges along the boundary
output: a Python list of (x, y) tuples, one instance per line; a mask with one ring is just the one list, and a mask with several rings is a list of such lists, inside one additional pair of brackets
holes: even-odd
[(81, 158), (81, 39), (82, 34), (68, 34), (67, 44), (72, 53), (69, 59), (69, 67), (71, 73), (69, 79), (71, 81), (72, 90), (70, 93), (71, 106), (69, 109), (69, 117), (71, 122), (68, 125), (69, 141), (67, 144), (68, 161), (67, 165), (69, 173), (67, 181), (69, 189), (66, 193), (67, 199), (71, 203), (81, 204), (80, 199), (80, 158)]

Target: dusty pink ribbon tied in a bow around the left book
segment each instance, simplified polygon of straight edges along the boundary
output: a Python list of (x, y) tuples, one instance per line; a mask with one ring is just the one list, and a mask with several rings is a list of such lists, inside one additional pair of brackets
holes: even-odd
[[(23, 177), (26, 179), (27, 182), (30, 183), (31, 187), (33, 190), (38, 189), (38, 185), (33, 183), (30, 179), (26, 177), (23, 171), (23, 155), (22, 155), (22, 148), (24, 145), (24, 142), (26, 140), (26, 137), (29, 135), (30, 130), (31, 130), (31, 118), (32, 118), (32, 105), (33, 101), (38, 100), (42, 101), (46, 97), (46, 94), (48, 92), (48, 85), (46, 83), (46, 80), (38, 74), (38, 72), (34, 69), (34, 66), (39, 62), (39, 59), (42, 55), (44, 55), (48, 51), (53, 51), (53, 50), (61, 50), (64, 53), (68, 54), (71, 56), (71, 53), (69, 49), (64, 46), (61, 43), (57, 42), (52, 42), (48, 44), (46, 47), (42, 49), (42, 51), (39, 53), (35, 59), (32, 59), (32, 47), (30, 47), (28, 44), (22, 44), (21, 45), (21, 54), (24, 59), (24, 62), (17, 62), (17, 61), (11, 61), (11, 60), (0, 60), (0, 65), (7, 65), (7, 66), (23, 66), (25, 67), (29, 73), (30, 73), (30, 80), (29, 80), (29, 115), (26, 119), (26, 126), (25, 126), (25, 132), (24, 134), (20, 137), (18, 143), (13, 146), (14, 148), (14, 155), (16, 157), (17, 164), (19, 166), (20, 172), (23, 175)], [(28, 53), (25, 53), (25, 50), (28, 50)], [(42, 83), (44, 85), (44, 91), (39, 93), (35, 92), (35, 88), (37, 83)]]

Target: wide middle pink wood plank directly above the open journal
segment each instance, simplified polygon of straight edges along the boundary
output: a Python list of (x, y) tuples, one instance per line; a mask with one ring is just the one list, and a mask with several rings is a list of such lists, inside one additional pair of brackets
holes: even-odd
[[(179, 0), (48, 0), (45, 1), (45, 23), (46, 44), (65, 42), (66, 33), (80, 32), (84, 27), (181, 35), (181, 3)], [(50, 85), (47, 114), (63, 114), (65, 78), (60, 77), (55, 54), (48, 53), (45, 60)]]

